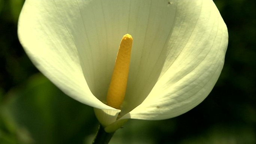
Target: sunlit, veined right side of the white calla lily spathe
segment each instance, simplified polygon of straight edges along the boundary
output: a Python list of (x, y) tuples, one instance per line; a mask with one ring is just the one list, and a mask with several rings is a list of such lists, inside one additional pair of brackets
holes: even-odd
[(147, 98), (121, 119), (160, 120), (186, 113), (205, 99), (220, 75), (228, 33), (215, 4), (211, 0), (176, 3), (159, 79)]

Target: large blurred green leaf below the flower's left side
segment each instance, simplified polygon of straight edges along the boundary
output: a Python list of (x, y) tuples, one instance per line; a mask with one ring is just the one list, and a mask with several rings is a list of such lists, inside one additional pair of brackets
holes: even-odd
[(97, 129), (93, 109), (63, 94), (42, 74), (11, 89), (6, 98), (1, 106), (6, 137), (0, 135), (1, 144), (82, 143)]

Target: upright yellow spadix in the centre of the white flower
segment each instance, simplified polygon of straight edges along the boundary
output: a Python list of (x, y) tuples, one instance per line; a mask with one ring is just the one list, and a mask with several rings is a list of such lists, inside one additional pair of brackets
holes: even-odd
[(120, 108), (125, 96), (129, 63), (131, 58), (132, 36), (125, 34), (121, 40), (115, 67), (107, 92), (107, 105), (113, 108)]

